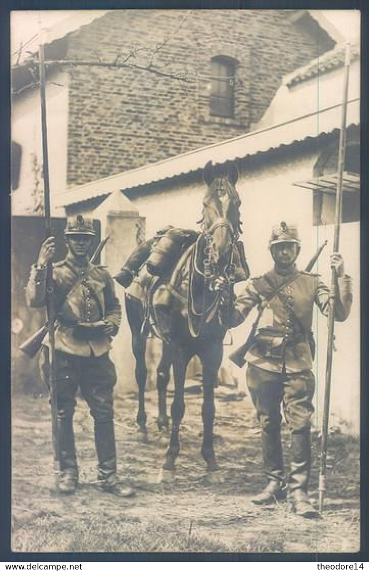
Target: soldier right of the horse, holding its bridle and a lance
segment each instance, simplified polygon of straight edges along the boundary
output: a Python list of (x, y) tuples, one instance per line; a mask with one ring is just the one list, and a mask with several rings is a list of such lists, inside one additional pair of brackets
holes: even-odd
[[(288, 485), (295, 512), (303, 517), (316, 517), (318, 512), (307, 495), (315, 388), (311, 371), (314, 359), (311, 323), (314, 303), (327, 316), (330, 289), (317, 274), (297, 269), (295, 262), (300, 252), (297, 227), (285, 222), (274, 227), (269, 248), (274, 267), (265, 275), (248, 281), (244, 292), (234, 301), (230, 315), (229, 289), (225, 280), (219, 278), (215, 287), (222, 292), (224, 321), (228, 320), (231, 327), (242, 323), (253, 307), (259, 307), (252, 339), (244, 346), (248, 361), (247, 383), (262, 428), (263, 468), (267, 479), (266, 488), (253, 498), (253, 502), (270, 504), (287, 495), (281, 440), (283, 404), (291, 433)], [(352, 302), (351, 278), (344, 274), (340, 254), (332, 254), (330, 263), (335, 268), (338, 282), (335, 318), (344, 321)], [(239, 360), (237, 364), (240, 364)]]

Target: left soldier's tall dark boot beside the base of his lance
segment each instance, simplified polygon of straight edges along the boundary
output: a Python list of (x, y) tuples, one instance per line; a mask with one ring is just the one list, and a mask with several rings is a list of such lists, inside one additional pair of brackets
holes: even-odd
[(78, 467), (74, 445), (73, 415), (64, 411), (58, 413), (58, 439), (60, 449), (60, 474), (58, 490), (60, 493), (75, 492), (78, 481)]

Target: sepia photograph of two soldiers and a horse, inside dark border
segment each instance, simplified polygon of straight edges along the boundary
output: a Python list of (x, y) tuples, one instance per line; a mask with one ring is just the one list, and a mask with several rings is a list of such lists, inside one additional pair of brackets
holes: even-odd
[(15, 553), (360, 549), (360, 12), (11, 13)]

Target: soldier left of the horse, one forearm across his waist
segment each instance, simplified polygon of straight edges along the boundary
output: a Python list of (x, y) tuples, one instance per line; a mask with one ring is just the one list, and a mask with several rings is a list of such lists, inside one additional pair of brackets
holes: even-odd
[[(68, 254), (52, 270), (54, 287), (55, 370), (57, 437), (60, 455), (58, 490), (73, 493), (78, 482), (73, 414), (78, 388), (94, 419), (98, 479), (101, 488), (117, 496), (133, 490), (116, 475), (113, 424), (115, 367), (110, 360), (111, 337), (118, 332), (120, 304), (107, 270), (94, 266), (88, 252), (95, 235), (92, 220), (77, 215), (68, 218), (64, 231)], [(55, 239), (47, 238), (31, 268), (26, 288), (29, 307), (46, 304), (46, 267), (55, 254)], [(48, 337), (43, 341), (43, 360), (48, 361)]]

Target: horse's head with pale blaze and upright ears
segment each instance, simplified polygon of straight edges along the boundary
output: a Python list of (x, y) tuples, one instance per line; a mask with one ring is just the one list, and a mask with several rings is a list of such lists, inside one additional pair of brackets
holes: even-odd
[(210, 161), (204, 168), (204, 180), (208, 186), (204, 198), (204, 229), (211, 236), (214, 263), (224, 268), (241, 232), (237, 167), (234, 163), (214, 167)]

